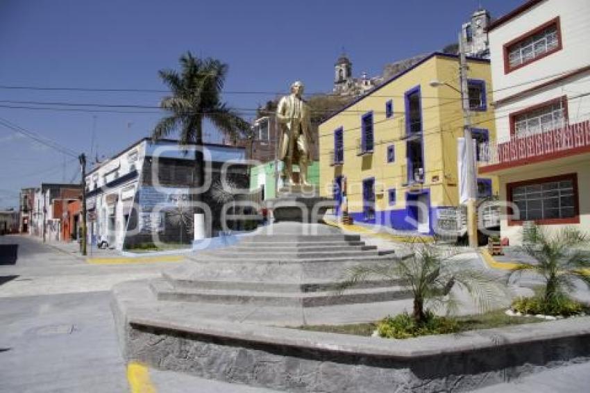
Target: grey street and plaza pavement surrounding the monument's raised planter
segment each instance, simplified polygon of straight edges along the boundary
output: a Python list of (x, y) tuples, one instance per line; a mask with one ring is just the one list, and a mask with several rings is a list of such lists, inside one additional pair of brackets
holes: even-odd
[[(363, 235), (363, 240), (401, 247), (378, 237)], [(11, 243), (19, 244), (16, 264), (0, 264), (0, 392), (273, 392), (142, 366), (144, 385), (129, 378), (115, 334), (110, 288), (159, 276), (183, 262), (92, 265), (71, 250), (28, 236), (0, 237), (0, 244)], [(464, 258), (492, 269), (475, 253)], [(588, 385), (590, 363), (584, 363), (480, 391), (573, 393), (587, 391)]]

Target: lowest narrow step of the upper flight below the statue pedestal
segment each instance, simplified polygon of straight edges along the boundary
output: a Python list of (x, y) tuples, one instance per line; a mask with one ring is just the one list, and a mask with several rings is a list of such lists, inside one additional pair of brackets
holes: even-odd
[[(366, 253), (371, 253), (367, 255)], [(188, 260), (201, 263), (233, 263), (233, 264), (307, 264), (307, 263), (321, 263), (321, 262), (391, 262), (391, 260), (398, 259), (394, 254), (388, 253), (380, 255), (377, 251), (362, 251), (356, 256), (334, 256), (332, 253), (327, 253), (326, 256), (317, 256), (310, 258), (309, 256), (299, 257), (292, 254), (288, 256), (276, 256), (276, 255), (258, 255), (258, 256), (225, 256), (217, 253), (199, 253), (196, 255), (187, 256)]]

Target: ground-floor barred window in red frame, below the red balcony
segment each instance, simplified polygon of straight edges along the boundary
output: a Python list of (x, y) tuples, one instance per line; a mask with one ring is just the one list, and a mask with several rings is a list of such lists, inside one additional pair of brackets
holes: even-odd
[(518, 220), (562, 219), (577, 215), (574, 179), (519, 185), (512, 188)]

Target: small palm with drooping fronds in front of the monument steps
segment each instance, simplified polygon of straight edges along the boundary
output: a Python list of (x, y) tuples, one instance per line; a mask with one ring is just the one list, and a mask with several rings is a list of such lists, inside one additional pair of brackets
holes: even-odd
[(391, 285), (401, 283), (412, 293), (412, 317), (418, 325), (428, 320), (429, 304), (432, 308), (446, 306), (448, 311), (457, 306), (450, 292), (454, 285), (466, 290), (482, 310), (489, 310), (492, 300), (506, 296), (505, 286), (495, 278), (473, 269), (468, 261), (455, 258), (460, 252), (453, 247), (443, 248), (416, 239), (407, 245), (406, 251), (404, 258), (391, 259), (385, 265), (353, 267), (346, 281), (339, 284), (339, 290), (366, 278), (385, 278)]

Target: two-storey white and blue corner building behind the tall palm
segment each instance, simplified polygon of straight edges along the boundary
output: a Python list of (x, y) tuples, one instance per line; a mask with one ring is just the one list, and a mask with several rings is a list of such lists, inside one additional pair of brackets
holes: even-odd
[[(205, 177), (210, 179), (201, 192), (210, 208), (210, 213), (205, 211), (205, 228), (214, 236), (221, 230), (221, 199), (237, 199), (233, 190), (248, 192), (245, 149), (205, 144), (203, 151)], [(92, 169), (86, 176), (90, 240), (116, 249), (155, 241), (191, 243), (193, 157), (176, 140), (144, 138)], [(230, 192), (222, 181), (230, 185)]]

